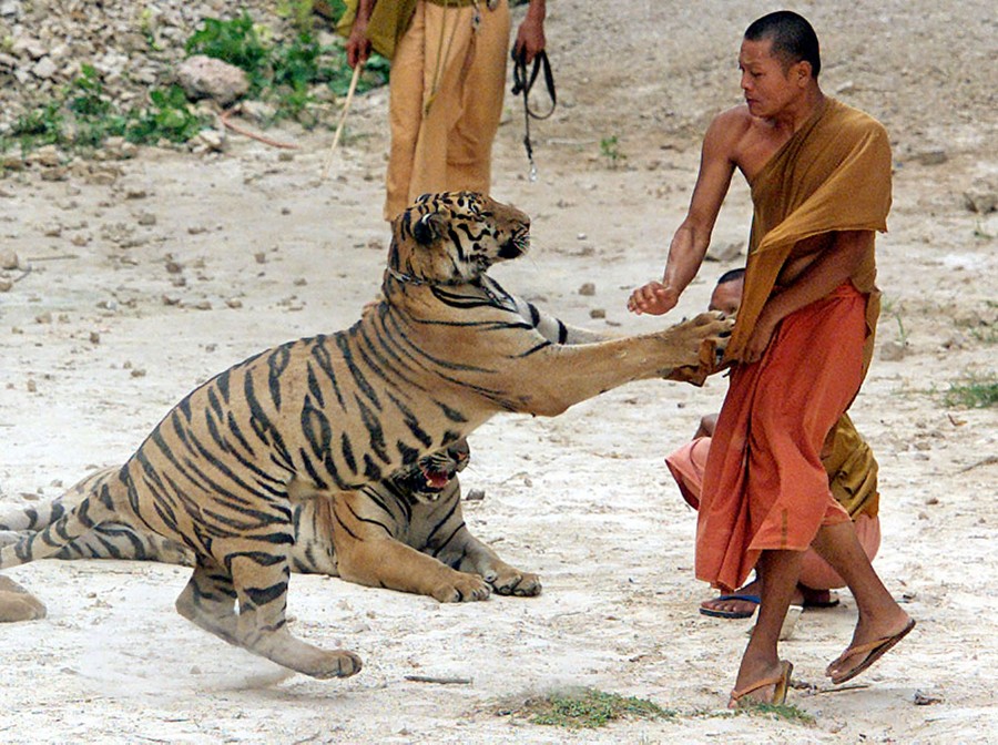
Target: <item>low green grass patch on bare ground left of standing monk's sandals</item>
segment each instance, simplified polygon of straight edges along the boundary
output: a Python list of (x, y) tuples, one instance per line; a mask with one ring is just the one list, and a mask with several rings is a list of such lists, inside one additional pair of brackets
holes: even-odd
[(656, 720), (675, 716), (644, 698), (621, 696), (594, 688), (551, 694), (527, 703), (532, 724), (570, 728), (602, 727), (614, 720)]

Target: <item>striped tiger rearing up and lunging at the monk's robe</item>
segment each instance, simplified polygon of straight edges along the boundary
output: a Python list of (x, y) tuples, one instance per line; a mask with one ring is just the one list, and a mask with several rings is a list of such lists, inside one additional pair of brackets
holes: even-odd
[(133, 524), (194, 553), (181, 615), (307, 675), (353, 675), (356, 654), (287, 629), (293, 498), (360, 489), (500, 411), (557, 416), (632, 380), (702, 380), (731, 331), (731, 320), (706, 313), (592, 344), (546, 337), (486, 274), (527, 251), (529, 227), (487, 196), (424, 195), (393, 221), (375, 308), (347, 330), (274, 347), (196, 388), (114, 478), (0, 550), (0, 569), (51, 555), (103, 522)]

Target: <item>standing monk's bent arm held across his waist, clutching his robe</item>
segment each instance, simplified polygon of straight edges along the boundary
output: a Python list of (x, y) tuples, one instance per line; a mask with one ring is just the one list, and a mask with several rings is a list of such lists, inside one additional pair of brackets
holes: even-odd
[(805, 305), (825, 297), (852, 277), (863, 263), (873, 239), (873, 231), (836, 233), (832, 245), (824, 249), (788, 287), (766, 300), (752, 330), (752, 337), (745, 345), (742, 361), (757, 361), (781, 320)]

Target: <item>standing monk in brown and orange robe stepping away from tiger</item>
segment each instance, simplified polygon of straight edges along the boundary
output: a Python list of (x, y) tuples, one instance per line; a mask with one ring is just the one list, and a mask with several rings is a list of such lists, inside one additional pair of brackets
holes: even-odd
[(729, 702), (782, 703), (793, 665), (778, 636), (804, 551), (845, 580), (859, 612), (853, 640), (826, 669), (862, 673), (914, 626), (832, 498), (822, 445), (858, 391), (878, 314), (874, 235), (886, 229), (890, 149), (867, 114), (824, 95), (811, 24), (777, 11), (754, 21), (739, 54), (745, 105), (719, 114), (703, 142), (686, 218), (662, 282), (631, 295), (662, 314), (700, 268), (734, 170), (755, 207), (745, 289), (729, 346), (734, 364), (704, 472), (696, 575), (723, 590), (753, 567), (758, 619)]

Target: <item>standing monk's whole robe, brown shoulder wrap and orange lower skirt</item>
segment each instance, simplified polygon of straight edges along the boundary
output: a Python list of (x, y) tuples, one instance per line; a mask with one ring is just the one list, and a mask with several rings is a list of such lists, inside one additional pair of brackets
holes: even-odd
[[(890, 147), (884, 127), (832, 99), (751, 183), (745, 289), (727, 357), (737, 360), (794, 245), (839, 231), (886, 231)], [(696, 576), (741, 586), (764, 550), (804, 551), (849, 519), (828, 488), (822, 446), (873, 354), (873, 245), (859, 271), (785, 317), (762, 359), (736, 365), (711, 443), (696, 528)]]

